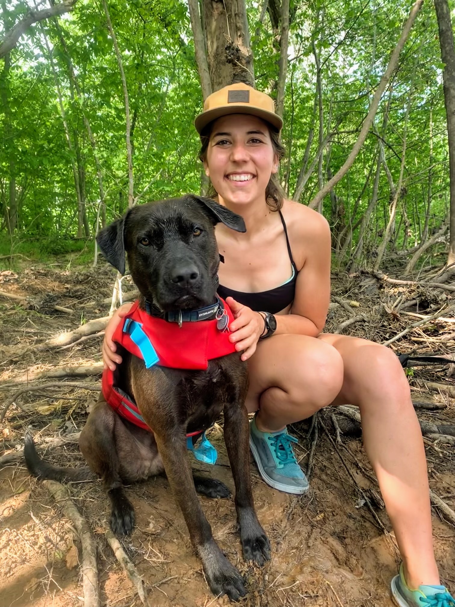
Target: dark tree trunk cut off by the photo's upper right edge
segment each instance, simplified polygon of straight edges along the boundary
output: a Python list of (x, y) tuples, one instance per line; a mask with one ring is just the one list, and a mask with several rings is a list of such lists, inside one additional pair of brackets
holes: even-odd
[(450, 174), (450, 236), (447, 264), (455, 263), (455, 46), (450, 19), (448, 0), (434, 0), (444, 83), (445, 111), (447, 113), (447, 134), (449, 141), (449, 174)]

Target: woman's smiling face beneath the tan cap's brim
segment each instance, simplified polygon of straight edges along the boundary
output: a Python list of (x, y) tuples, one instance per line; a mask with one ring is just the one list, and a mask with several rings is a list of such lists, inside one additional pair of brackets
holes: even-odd
[(222, 200), (233, 205), (260, 200), (278, 157), (267, 124), (255, 116), (231, 114), (215, 121), (204, 161), (206, 174)]

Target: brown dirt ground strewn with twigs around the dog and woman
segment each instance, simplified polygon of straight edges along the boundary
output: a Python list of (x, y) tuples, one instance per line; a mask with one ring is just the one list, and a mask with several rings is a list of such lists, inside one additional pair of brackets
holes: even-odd
[[(0, 272), (0, 291), (21, 298), (0, 296), (1, 409), (16, 390), (27, 387), (27, 382), (36, 385), (45, 381), (39, 374), (101, 361), (102, 335), (64, 350), (39, 346), (61, 331), (106, 316), (109, 305), (103, 300), (110, 296), (113, 277), (113, 270), (104, 263), (95, 270), (72, 270), (65, 261), (47, 266), (24, 263), (15, 270)], [(359, 313), (365, 316), (345, 333), (377, 341), (389, 339), (416, 320), (391, 311), (399, 297), (416, 297), (420, 302), (419, 312), (423, 314), (433, 313), (434, 307), (443, 303), (440, 292), (435, 294), (419, 288), (403, 291), (363, 274), (334, 276), (333, 285), (334, 297), (355, 302), (352, 316)], [(124, 290), (131, 288), (126, 279)], [(448, 297), (450, 299), (450, 295)], [(55, 310), (55, 305), (70, 308), (73, 313)], [(349, 308), (335, 305), (326, 330), (333, 331), (348, 317)], [(398, 341), (392, 347), (401, 352), (420, 348), (419, 353), (453, 353), (453, 342), (442, 345), (432, 340), (454, 330), (454, 324), (431, 324), (411, 331), (405, 337), (409, 341)], [(416, 341), (412, 341), (412, 336)], [(72, 435), (83, 427), (87, 407), (97, 396), (96, 392), (84, 389), (83, 384), (87, 381), (93, 384), (99, 376), (53, 381), (65, 379), (79, 382), (81, 387), (62, 384), (15, 398), (0, 426), (1, 455), (14, 455), (22, 448), (26, 429), (31, 429), (36, 442), (42, 445), (56, 436)], [(455, 424), (454, 400), (446, 393), (428, 392), (425, 388), (428, 381), (455, 385), (453, 376), (448, 376), (447, 365), (416, 367), (409, 381), (416, 401), (447, 405), (436, 411), (419, 411), (420, 419)], [(12, 382), (20, 383), (10, 385)], [(361, 438), (342, 434), (342, 444), (332, 443), (329, 436), (334, 438), (335, 434), (329, 419), (323, 418), (318, 423), (309, 495), (293, 497), (266, 486), (252, 463), (258, 517), (272, 543), (272, 559), (263, 569), (254, 568), (241, 558), (233, 499), (200, 498), (215, 539), (248, 580), (249, 594), (243, 605), (391, 607), (393, 604), (389, 583), (397, 572), (399, 557), (377, 493), (377, 483)], [(311, 432), (308, 422), (302, 422), (292, 427), (291, 432), (299, 439), (296, 453), (305, 469), (314, 444), (314, 431)], [(215, 426), (209, 438), (218, 449), (217, 464), (207, 466), (194, 462), (194, 467), (219, 478), (234, 490), (221, 427)], [(426, 453), (431, 488), (454, 509), (454, 446), (426, 439)], [(45, 457), (59, 465), (83, 465), (76, 443), (49, 447)], [(96, 539), (102, 605), (141, 605), (135, 588), (107, 543), (109, 510), (100, 483), (72, 484), (69, 490)], [(170, 495), (166, 479), (152, 478), (130, 486), (127, 492), (136, 510), (136, 529), (121, 543), (144, 578), (150, 605), (227, 605), (225, 597), (215, 598), (207, 588), (200, 561), (192, 551), (183, 517)], [(365, 496), (369, 496), (372, 510), (367, 507)], [(455, 529), (435, 509), (433, 524), (440, 574), (443, 583), (454, 591)], [(44, 485), (29, 475), (23, 459), (2, 461), (0, 529), (0, 605), (83, 605), (78, 566), (81, 543), (73, 523), (61, 515)]]

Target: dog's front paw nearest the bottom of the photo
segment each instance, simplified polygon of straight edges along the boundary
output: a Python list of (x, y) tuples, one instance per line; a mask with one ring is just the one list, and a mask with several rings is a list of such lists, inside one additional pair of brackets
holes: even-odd
[(231, 601), (238, 601), (246, 595), (243, 576), (229, 563), (213, 538), (204, 546), (200, 546), (198, 553), (207, 583), (215, 596), (226, 594)]

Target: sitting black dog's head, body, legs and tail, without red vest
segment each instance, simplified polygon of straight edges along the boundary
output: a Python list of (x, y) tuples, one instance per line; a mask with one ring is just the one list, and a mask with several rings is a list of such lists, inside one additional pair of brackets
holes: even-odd
[[(141, 310), (175, 316), (217, 301), (219, 257), (214, 226), (218, 222), (245, 231), (239, 215), (209, 198), (186, 195), (130, 209), (99, 232), (97, 240), (104, 256), (122, 274), (127, 253), (130, 273), (141, 293)], [(192, 478), (186, 433), (207, 429), (223, 411), (243, 556), (263, 565), (270, 558), (270, 544), (257, 520), (251, 491), (246, 365), (238, 353), (232, 353), (209, 361), (207, 370), (146, 369), (142, 359), (127, 351), (121, 354), (121, 387), (133, 396), (153, 433), (121, 418), (101, 397), (79, 439), (90, 469), (103, 478), (112, 506), (112, 529), (127, 534), (134, 524), (123, 483), (164, 470), (212, 592), (238, 600), (246, 594), (243, 578), (215, 543), (195, 484), (211, 497), (225, 497), (227, 487), (219, 481)], [(74, 480), (84, 475), (84, 470), (49, 466), (37, 455), (31, 438), (25, 443), (25, 459), (36, 476)]]

